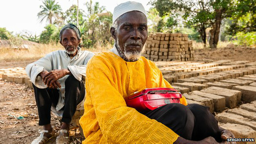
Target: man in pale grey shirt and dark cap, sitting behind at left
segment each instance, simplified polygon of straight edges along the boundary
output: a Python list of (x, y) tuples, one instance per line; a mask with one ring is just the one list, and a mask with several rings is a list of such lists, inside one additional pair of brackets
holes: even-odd
[(34, 87), (39, 126), (43, 126), (40, 136), (32, 144), (45, 144), (55, 135), (50, 124), (50, 110), (62, 117), (63, 122), (56, 144), (68, 144), (71, 118), (76, 110), (83, 109), (86, 64), (94, 53), (78, 47), (80, 31), (73, 24), (62, 27), (59, 39), (65, 50), (49, 53), (26, 67)]

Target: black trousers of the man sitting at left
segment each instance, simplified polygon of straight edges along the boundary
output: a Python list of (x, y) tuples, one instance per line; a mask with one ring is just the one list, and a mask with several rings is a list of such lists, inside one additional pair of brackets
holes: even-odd
[[(50, 124), (50, 109), (53, 105), (57, 106), (59, 101), (59, 90), (58, 89), (39, 89), (35, 85), (34, 93), (37, 102), (37, 109), (39, 115), (39, 126)], [(75, 79), (73, 75), (65, 80), (65, 105), (62, 107), (62, 121), (70, 123), (72, 116), (75, 114), (77, 105), (85, 97), (85, 86), (84, 83)]]

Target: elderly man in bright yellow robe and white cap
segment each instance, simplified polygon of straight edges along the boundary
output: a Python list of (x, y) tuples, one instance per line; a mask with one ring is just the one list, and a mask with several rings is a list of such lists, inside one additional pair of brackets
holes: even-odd
[(225, 140), (233, 134), (218, 127), (208, 107), (187, 105), (184, 97), (181, 104), (146, 114), (127, 107), (125, 100), (135, 91), (172, 88), (157, 66), (140, 56), (147, 28), (142, 4), (125, 2), (114, 8), (114, 46), (87, 64), (82, 144), (229, 144)]

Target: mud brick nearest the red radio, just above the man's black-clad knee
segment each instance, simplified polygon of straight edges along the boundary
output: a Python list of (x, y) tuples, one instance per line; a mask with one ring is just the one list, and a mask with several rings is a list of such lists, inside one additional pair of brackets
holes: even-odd
[(213, 99), (212, 98), (206, 98), (202, 96), (197, 96), (195, 94), (187, 94), (184, 93), (183, 96), (185, 96), (186, 99), (190, 99), (192, 101), (198, 101), (200, 103), (203, 103), (205, 106), (210, 108), (210, 112), (214, 112), (214, 104), (213, 104)]

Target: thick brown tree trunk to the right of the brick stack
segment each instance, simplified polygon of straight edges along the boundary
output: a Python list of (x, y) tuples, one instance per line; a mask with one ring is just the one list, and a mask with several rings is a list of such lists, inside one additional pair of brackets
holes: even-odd
[(212, 30), (210, 31), (210, 48), (217, 48), (219, 41), (220, 25), (222, 20), (222, 11), (220, 9), (215, 9), (215, 22), (213, 23)]

